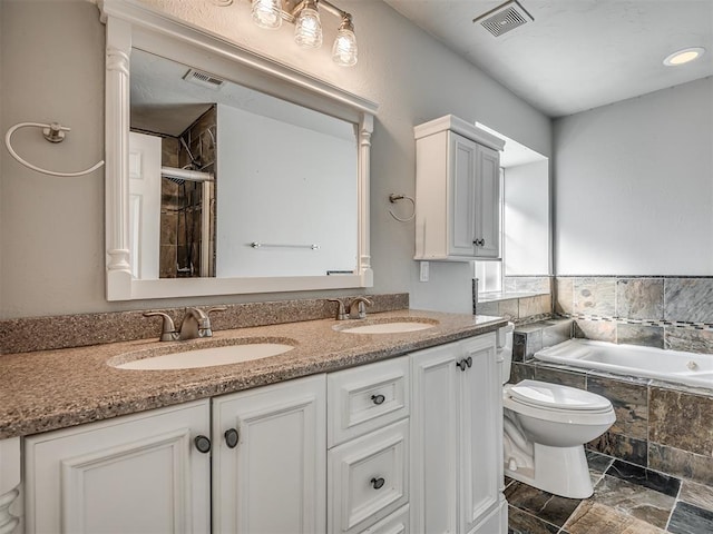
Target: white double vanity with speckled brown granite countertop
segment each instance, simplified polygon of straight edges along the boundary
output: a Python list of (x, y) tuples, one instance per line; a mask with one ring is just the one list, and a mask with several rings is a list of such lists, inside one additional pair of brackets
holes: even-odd
[[(18, 490), (10, 498), (23, 501), (22, 532), (507, 532), (496, 347), (504, 322), (409, 310), (361, 322), (414, 317), (433, 326), (364, 335), (323, 319), (224, 330), (213, 340), (4, 356), (11, 379), (23, 365), (43, 365), (56, 389), (70, 380), (64, 376), (86, 380), (84, 390), (78, 382), (27, 407), (37, 418), (14, 421), (14, 432), (30, 435), (0, 441), (3, 452), (22, 451), (22, 498)], [(203, 369), (109, 365), (235, 336), (294, 349)], [(47, 421), (75, 426), (32, 434), (46, 421), (41, 412), (57, 414), (60, 397), (67, 413)], [(118, 412), (170, 405), (76, 425), (95, 406), (104, 417), (110, 402)], [(10, 415), (0, 415), (9, 428)]]

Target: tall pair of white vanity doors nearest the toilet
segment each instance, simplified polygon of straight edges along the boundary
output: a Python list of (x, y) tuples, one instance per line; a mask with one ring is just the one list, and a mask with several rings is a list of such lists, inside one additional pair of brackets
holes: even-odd
[(507, 532), (500, 365), (495, 334), (412, 355), (411, 532)]

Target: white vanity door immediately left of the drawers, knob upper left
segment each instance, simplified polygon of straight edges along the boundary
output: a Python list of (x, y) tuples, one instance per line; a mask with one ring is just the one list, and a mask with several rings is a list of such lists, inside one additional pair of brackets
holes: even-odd
[(325, 532), (325, 375), (216, 397), (213, 429), (213, 532)]

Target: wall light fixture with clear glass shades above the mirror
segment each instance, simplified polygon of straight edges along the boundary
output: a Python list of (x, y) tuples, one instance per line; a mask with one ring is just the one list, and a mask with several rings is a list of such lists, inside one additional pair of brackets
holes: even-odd
[[(233, 0), (213, 0), (216, 6), (229, 6)], [(322, 46), (322, 21), (320, 10), (341, 18), (336, 38), (332, 46), (332, 60), (343, 67), (356, 65), (356, 36), (352, 16), (328, 0), (251, 0), (253, 21), (261, 28), (277, 29), (286, 20), (295, 24), (294, 40), (304, 48)], [(223, 3), (226, 2), (226, 3)], [(227, 3), (229, 2), (229, 3)]]

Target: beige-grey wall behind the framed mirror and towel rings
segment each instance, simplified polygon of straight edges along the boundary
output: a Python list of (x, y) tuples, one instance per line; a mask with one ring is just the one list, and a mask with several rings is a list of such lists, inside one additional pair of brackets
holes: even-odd
[[(60, 121), (72, 127), (65, 142), (50, 146), (37, 131), (28, 130), (18, 132), (18, 150), (38, 165), (56, 169), (92, 165), (104, 146), (104, 26), (96, 6), (80, 0), (0, 1), (2, 134), (19, 121)], [(456, 308), (468, 309), (468, 265), (432, 264), (431, 281), (418, 283), (418, 266), (411, 259), (413, 224), (398, 222), (388, 214), (390, 192), (414, 191), (412, 128), (453, 113), (484, 122), (550, 156), (547, 117), (381, 1), (336, 2), (354, 16), (360, 42), (360, 61), (354, 69), (339, 68), (330, 60), (338, 24), (330, 14), (324, 16), (323, 48), (310, 52), (294, 46), (289, 24), (277, 32), (254, 27), (246, 0), (236, 0), (231, 8), (216, 8), (208, 0), (147, 3), (174, 9), (173, 14), (188, 19), (199, 13), (202, 23), (213, 31), (377, 101), (371, 166), (374, 287), (370, 291), (409, 291), (417, 303), (442, 307), (452, 301)], [(184, 8), (176, 9), (182, 4)], [(0, 318), (287, 296), (107, 303), (104, 171), (50, 178), (25, 169), (4, 148), (0, 158)]]

